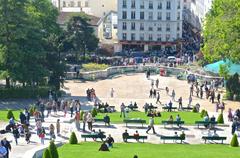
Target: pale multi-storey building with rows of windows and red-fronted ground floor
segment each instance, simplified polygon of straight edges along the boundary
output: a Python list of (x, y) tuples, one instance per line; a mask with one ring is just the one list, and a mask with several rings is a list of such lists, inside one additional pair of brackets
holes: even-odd
[(118, 0), (117, 51), (181, 47), (183, 0)]

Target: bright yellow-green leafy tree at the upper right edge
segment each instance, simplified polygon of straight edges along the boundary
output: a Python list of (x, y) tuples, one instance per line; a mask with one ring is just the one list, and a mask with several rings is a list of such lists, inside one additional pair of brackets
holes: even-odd
[(214, 0), (204, 25), (204, 58), (240, 61), (240, 1)]

